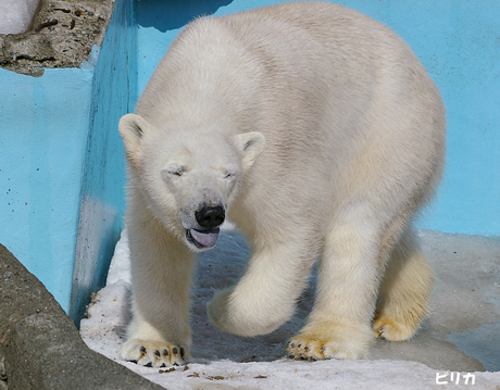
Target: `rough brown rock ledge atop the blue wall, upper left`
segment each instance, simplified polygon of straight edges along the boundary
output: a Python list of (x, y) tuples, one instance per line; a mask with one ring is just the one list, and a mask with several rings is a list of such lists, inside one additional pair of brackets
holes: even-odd
[(77, 67), (100, 46), (114, 0), (41, 0), (30, 28), (0, 34), (0, 66), (39, 77), (43, 67)]

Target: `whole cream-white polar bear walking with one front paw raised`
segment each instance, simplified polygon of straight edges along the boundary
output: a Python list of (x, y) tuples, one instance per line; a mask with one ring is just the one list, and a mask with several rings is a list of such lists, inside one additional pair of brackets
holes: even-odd
[(251, 256), (208, 305), (220, 329), (273, 331), (318, 261), (293, 358), (363, 358), (427, 314), (433, 273), (412, 219), (443, 169), (439, 92), (403, 41), (326, 2), (203, 17), (178, 36), (135, 114), (128, 163), (133, 320), (121, 356), (190, 360), (195, 253), (224, 221)]

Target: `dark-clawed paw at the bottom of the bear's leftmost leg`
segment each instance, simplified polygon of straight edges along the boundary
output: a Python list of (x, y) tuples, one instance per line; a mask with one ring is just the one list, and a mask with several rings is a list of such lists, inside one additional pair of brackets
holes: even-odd
[(121, 358), (146, 367), (168, 367), (184, 364), (191, 356), (186, 345), (174, 345), (166, 341), (128, 340), (122, 349)]

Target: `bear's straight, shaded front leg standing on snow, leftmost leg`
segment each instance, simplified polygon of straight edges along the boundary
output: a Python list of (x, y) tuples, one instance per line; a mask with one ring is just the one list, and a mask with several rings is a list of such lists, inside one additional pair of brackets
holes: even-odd
[(121, 358), (152, 367), (182, 364), (190, 360), (193, 253), (147, 212), (129, 214), (133, 320)]

